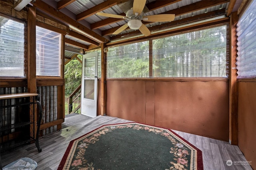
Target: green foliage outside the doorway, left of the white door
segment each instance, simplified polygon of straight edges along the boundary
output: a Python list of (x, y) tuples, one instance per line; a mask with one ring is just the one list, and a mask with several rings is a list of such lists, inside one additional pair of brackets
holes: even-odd
[[(78, 55), (82, 59), (82, 55)], [(77, 59), (73, 59), (65, 65), (65, 96), (69, 96), (80, 84), (82, 76), (82, 63)]]

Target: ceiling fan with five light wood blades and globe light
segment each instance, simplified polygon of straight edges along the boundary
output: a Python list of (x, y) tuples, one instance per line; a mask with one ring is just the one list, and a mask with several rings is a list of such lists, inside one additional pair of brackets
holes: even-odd
[(107, 14), (98, 12), (97, 15), (104, 16), (104, 17), (110, 17), (110, 18), (120, 18), (120, 19), (127, 19), (129, 20), (128, 23), (124, 24), (122, 27), (118, 28), (113, 34), (117, 35), (120, 32), (124, 31), (127, 27), (130, 27), (130, 29), (139, 29), (140, 32), (148, 36), (150, 35), (150, 30), (146, 25), (142, 23), (143, 21), (148, 22), (168, 22), (173, 21), (175, 18), (175, 14), (157, 14), (157, 15), (151, 15), (151, 16), (144, 16), (143, 9), (146, 5), (146, 0), (134, 0), (133, 6), (130, 10), (126, 12), (126, 16), (116, 15), (116, 14)]

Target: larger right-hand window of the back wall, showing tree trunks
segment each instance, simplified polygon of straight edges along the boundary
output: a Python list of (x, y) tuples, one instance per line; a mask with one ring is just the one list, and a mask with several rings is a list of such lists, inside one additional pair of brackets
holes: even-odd
[(153, 40), (153, 77), (227, 77), (226, 25)]

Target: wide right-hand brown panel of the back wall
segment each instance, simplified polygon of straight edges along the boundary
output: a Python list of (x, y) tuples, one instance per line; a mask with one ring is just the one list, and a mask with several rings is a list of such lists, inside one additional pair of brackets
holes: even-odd
[(154, 125), (228, 141), (228, 82), (155, 82)]

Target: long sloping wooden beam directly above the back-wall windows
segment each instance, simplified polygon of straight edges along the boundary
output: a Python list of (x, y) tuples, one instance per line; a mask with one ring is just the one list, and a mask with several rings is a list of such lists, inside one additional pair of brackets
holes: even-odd
[(182, 33), (182, 32), (192, 30), (192, 29), (194, 29), (194, 30), (201, 29), (202, 27), (210, 27), (212, 25), (223, 24), (225, 22), (229, 23), (228, 17), (220, 18), (218, 20), (207, 21), (207, 22), (203, 22), (203, 23), (197, 23), (195, 25), (188, 25), (186, 27), (176, 28), (176, 29), (172, 29), (172, 30), (168, 30), (168, 31), (163, 31), (160, 33), (154, 33), (154, 34), (149, 35), (148, 37), (145, 37), (144, 35), (142, 35), (140, 37), (134, 37), (134, 38), (130, 38), (130, 39), (124, 39), (121, 41), (110, 42), (110, 43), (106, 43), (106, 47), (120, 45), (120, 44), (127, 44), (127, 43), (132, 43), (132, 42), (137, 42), (137, 41), (143, 41), (143, 40), (146, 41), (150, 38), (164, 37), (164, 36), (170, 35), (170, 34)]

